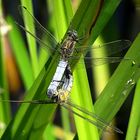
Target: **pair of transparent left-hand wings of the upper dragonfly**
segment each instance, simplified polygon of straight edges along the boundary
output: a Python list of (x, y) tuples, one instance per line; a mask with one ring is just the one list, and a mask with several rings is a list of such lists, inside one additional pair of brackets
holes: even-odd
[[(24, 28), (22, 25), (18, 24), (16, 22), (16, 24), (22, 28), (25, 32), (29, 33), (31, 36), (33, 36), (36, 41), (41, 44), (41, 46), (51, 52), (56, 51), (56, 46), (57, 46), (57, 41), (55, 39), (55, 37), (47, 30), (45, 29), (40, 23), (39, 21), (26, 9), (26, 7), (24, 6), (19, 6), (19, 12), (20, 15), (23, 18), (23, 14), (22, 12), (29, 18), (33, 20), (33, 24), (35, 26), (35, 30), (36, 30), (36, 34), (30, 32), (28, 29)], [(29, 26), (31, 27), (31, 26)], [(43, 35), (45, 36), (46, 40), (42, 41), (42, 37)]]

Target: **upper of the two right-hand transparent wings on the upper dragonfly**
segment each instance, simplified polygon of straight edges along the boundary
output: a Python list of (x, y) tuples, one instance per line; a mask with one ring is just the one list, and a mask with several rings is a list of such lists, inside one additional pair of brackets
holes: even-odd
[(93, 53), (96, 56), (99, 56), (102, 51), (107, 51), (107, 55), (111, 56), (113, 54), (116, 54), (118, 52), (121, 52), (125, 50), (126, 48), (129, 48), (131, 45), (130, 40), (116, 40), (112, 42), (108, 42), (105, 44), (101, 44), (98, 46), (79, 46), (79, 48), (75, 49), (74, 57), (77, 56), (79, 53), (86, 54), (87, 52), (93, 51)]

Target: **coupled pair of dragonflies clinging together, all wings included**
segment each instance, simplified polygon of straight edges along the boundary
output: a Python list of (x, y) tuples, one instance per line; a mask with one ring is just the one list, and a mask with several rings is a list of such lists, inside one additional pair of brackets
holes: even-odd
[[(33, 36), (39, 44), (46, 50), (49, 50), (50, 53), (57, 52), (60, 54), (60, 60), (58, 66), (56, 68), (56, 72), (52, 78), (52, 81), (47, 90), (47, 96), (49, 100), (32, 100), (32, 101), (15, 101), (15, 100), (3, 100), (9, 102), (19, 102), (19, 103), (33, 103), (33, 104), (60, 104), (62, 107), (70, 110), (75, 115), (87, 120), (89, 123), (96, 125), (99, 129), (105, 129), (106, 127), (114, 130), (117, 133), (123, 134), (123, 132), (108, 123), (106, 123), (102, 118), (97, 116), (95, 113), (90, 112), (74, 103), (69, 99), (70, 91), (73, 85), (73, 76), (70, 67), (70, 61), (78, 60), (80, 56), (76, 55), (79, 53), (83, 53), (90, 51), (86, 46), (82, 48), (76, 48), (75, 45), (79, 43), (80, 39), (78, 38), (78, 33), (76, 30), (69, 30), (67, 33), (67, 37), (60, 44), (56, 41), (55, 37), (45, 29), (38, 20), (26, 9), (24, 6), (20, 6), (20, 11), (25, 12), (30, 18), (33, 19), (34, 24), (36, 25), (36, 32), (38, 34), (31, 33), (29, 30), (24, 28), (22, 25), (16, 23), (20, 28), (22, 28), (25, 32), (29, 33)], [(45, 34), (47, 36), (48, 41), (42, 41), (41, 34)], [(48, 43), (49, 42), (49, 43)], [(131, 42), (129, 40), (118, 40), (110, 43), (106, 43), (104, 45), (100, 45), (99, 47), (92, 48), (95, 53), (98, 53), (101, 49), (109, 49), (109, 54), (114, 54), (122, 51), (130, 46)], [(58, 49), (57, 49), (57, 46)], [(110, 46), (110, 47), (109, 47)], [(117, 48), (116, 48), (117, 46)], [(123, 59), (122, 57), (105, 57), (105, 58), (92, 58), (92, 57), (83, 57), (85, 61), (93, 61), (93, 65), (101, 65), (105, 63), (115, 63), (120, 62)], [(131, 60), (131, 59), (128, 59)], [(76, 111), (77, 110), (77, 111)], [(79, 112), (86, 114), (91, 117), (84, 117)]]

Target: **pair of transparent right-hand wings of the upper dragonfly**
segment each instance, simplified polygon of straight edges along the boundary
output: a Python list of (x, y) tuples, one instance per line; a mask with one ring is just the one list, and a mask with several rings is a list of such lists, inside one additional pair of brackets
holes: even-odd
[[(105, 43), (99, 46), (93, 46), (93, 47), (83, 47), (81, 48), (76, 48), (75, 53), (73, 56), (69, 57), (69, 62), (71, 65), (75, 64), (77, 61), (79, 61), (78, 65), (80, 66), (82, 64), (82, 61), (85, 61), (85, 64), (87, 67), (92, 67), (92, 66), (99, 66), (107, 63), (118, 63), (122, 60), (124, 61), (131, 61), (132, 63), (134, 62), (131, 58), (123, 58), (123, 57), (109, 57), (113, 54), (116, 54), (118, 52), (121, 52), (127, 48), (129, 48), (131, 45), (131, 42), (129, 40), (117, 40), (117, 41), (112, 41), (109, 43)], [(100, 57), (101, 52), (103, 50), (107, 51), (107, 56), (106, 57)], [(78, 55), (79, 53), (86, 54), (87, 52), (93, 51), (93, 57), (81, 57)]]

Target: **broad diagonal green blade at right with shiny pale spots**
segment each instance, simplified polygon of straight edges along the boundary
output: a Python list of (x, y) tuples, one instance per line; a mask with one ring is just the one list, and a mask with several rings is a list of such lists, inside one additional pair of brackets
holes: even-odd
[(137, 46), (140, 43), (139, 38), (140, 35), (125, 55), (125, 58), (133, 59), (136, 64), (133, 65), (132, 61), (122, 61), (94, 105), (97, 115), (106, 122), (113, 119), (140, 76), (140, 48)]

